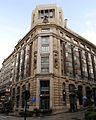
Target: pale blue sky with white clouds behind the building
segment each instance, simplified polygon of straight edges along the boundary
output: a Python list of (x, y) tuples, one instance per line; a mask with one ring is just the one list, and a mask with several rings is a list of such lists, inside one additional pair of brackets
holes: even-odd
[(96, 0), (0, 0), (0, 68), (30, 30), (32, 11), (42, 4), (61, 7), (68, 27), (96, 45)]

